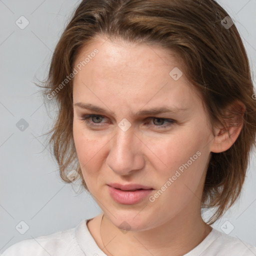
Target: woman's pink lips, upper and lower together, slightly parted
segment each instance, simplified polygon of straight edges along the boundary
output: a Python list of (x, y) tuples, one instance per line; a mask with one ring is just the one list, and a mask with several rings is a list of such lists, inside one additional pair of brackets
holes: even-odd
[[(113, 187), (114, 186), (119, 186)], [(144, 188), (143, 188), (144, 187)], [(126, 191), (123, 191), (121, 189), (124, 189)], [(128, 189), (139, 189), (135, 191), (130, 191)], [(143, 200), (145, 197), (147, 197), (154, 189), (139, 185), (139, 184), (127, 184), (127, 185), (121, 185), (121, 184), (111, 184), (108, 185), (108, 191), (110, 196), (113, 198), (114, 201), (120, 204), (135, 204)]]

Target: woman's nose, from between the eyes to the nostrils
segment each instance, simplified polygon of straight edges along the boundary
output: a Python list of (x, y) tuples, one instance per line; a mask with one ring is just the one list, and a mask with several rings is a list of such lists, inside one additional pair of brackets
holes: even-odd
[(130, 175), (144, 166), (145, 145), (133, 132), (132, 127), (123, 131), (117, 127), (116, 134), (109, 141), (106, 164), (119, 175)]

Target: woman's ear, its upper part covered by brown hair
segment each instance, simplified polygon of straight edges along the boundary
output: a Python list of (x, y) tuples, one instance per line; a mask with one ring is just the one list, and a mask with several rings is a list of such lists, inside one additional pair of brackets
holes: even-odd
[(214, 127), (214, 141), (211, 144), (211, 152), (219, 153), (226, 151), (237, 139), (243, 125), (245, 105), (236, 100), (224, 111), (224, 118), (218, 127)]

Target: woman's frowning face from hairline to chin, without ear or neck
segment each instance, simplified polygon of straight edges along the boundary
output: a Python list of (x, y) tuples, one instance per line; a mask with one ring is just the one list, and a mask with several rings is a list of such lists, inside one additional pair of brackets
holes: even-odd
[[(212, 133), (170, 53), (99, 40), (74, 62), (73, 138), (83, 178), (110, 221), (131, 230), (200, 214)], [(163, 107), (169, 111), (156, 111)], [(111, 183), (150, 189), (123, 192)]]

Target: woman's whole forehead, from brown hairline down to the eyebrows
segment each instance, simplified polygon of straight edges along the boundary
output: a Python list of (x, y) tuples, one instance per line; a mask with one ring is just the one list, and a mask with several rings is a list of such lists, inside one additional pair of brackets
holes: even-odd
[(95, 41), (79, 52), (74, 67), (76, 101), (104, 98), (127, 106), (148, 102), (185, 108), (196, 96), (177, 54), (156, 45)]

